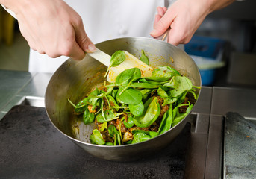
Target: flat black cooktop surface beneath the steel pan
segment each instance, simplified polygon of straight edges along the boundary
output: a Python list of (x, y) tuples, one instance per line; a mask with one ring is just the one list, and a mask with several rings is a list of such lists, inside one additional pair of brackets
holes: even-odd
[(190, 128), (157, 154), (120, 163), (87, 154), (51, 125), (45, 108), (15, 106), (0, 121), (0, 178), (184, 178)]

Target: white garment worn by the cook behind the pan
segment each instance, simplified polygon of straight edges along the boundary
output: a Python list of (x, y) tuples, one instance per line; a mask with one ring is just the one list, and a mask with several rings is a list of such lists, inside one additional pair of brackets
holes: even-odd
[[(65, 0), (81, 16), (93, 43), (118, 37), (151, 37), (157, 7), (173, 0)], [(55, 72), (68, 58), (31, 50), (29, 72)]]

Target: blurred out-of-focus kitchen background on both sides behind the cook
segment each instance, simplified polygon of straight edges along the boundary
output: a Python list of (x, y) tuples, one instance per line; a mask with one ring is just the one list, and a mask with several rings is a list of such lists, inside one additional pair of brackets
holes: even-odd
[[(202, 75), (202, 85), (256, 88), (256, 1), (235, 1), (211, 13), (185, 51)], [(0, 69), (28, 71), (29, 46), (16, 19), (0, 8)]]

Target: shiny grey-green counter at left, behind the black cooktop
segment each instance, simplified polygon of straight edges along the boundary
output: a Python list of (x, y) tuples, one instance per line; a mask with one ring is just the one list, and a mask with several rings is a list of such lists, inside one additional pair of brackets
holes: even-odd
[(0, 119), (25, 97), (43, 98), (50, 73), (30, 73), (0, 70)]

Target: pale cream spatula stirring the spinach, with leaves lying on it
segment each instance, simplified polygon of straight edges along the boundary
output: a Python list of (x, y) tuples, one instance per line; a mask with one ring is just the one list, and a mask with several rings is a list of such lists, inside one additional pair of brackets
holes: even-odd
[[(141, 71), (142, 77), (149, 77), (152, 75), (153, 69), (152, 67), (148, 66), (146, 63), (143, 63), (137, 57), (134, 57), (134, 55), (130, 54), (128, 51), (125, 52), (125, 61), (123, 61), (119, 66), (116, 67), (110, 67), (108, 75), (107, 75), (107, 81), (110, 83), (113, 83), (116, 81), (116, 76), (119, 75), (122, 71), (125, 69), (131, 69), (134, 67), (137, 67)], [(104, 53), (103, 51), (96, 48), (96, 51), (93, 53), (87, 53), (91, 57), (98, 60), (100, 63), (103, 63), (105, 66), (110, 66), (110, 59), (111, 56)]]

